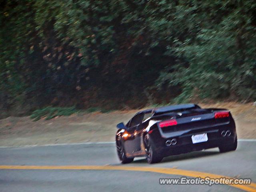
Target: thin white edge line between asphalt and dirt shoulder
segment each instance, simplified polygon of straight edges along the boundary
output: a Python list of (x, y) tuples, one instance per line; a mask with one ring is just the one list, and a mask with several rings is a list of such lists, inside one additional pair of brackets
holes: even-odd
[[(238, 139), (238, 142), (256, 142), (256, 139)], [(106, 142), (84, 142), (84, 143), (57, 143), (46, 145), (23, 145), (23, 146), (0, 146), (0, 148), (22, 148), (22, 147), (45, 147), (45, 146), (65, 146), (65, 145), (89, 145), (89, 144), (114, 144), (114, 141)]]

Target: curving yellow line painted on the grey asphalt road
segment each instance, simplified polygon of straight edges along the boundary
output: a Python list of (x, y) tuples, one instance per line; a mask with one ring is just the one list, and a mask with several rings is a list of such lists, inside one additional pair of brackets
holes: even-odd
[[(126, 171), (144, 171), (144, 172), (157, 172), (162, 174), (181, 175), (188, 177), (210, 177), (221, 178), (226, 177), (205, 172), (181, 170), (176, 168), (158, 168), (158, 167), (142, 167), (142, 166), (19, 166), (19, 165), (0, 165), (0, 169), (22, 169), (22, 170), (126, 170)], [(229, 177), (226, 177), (229, 178)], [(250, 185), (230, 185), (235, 188), (242, 189), (248, 192), (256, 192), (256, 184)]]

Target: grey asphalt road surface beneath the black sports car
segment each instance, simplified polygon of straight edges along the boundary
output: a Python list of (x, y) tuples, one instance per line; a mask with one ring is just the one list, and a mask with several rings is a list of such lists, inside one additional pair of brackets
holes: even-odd
[(159, 178), (191, 174), (251, 178), (255, 183), (255, 148), (256, 142), (238, 142), (234, 152), (220, 154), (214, 148), (170, 156), (152, 165), (143, 158), (120, 164), (115, 144), (0, 148), (0, 191), (256, 191), (256, 186), (159, 184)]

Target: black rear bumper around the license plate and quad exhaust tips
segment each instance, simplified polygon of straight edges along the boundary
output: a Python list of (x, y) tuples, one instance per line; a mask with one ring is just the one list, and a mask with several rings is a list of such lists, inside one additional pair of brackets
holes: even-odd
[[(222, 136), (221, 132), (223, 130), (230, 130), (230, 136)], [(193, 144), (192, 143), (192, 135), (206, 133), (208, 137), (208, 141), (200, 142)], [(166, 146), (167, 140), (176, 139), (177, 143), (175, 145)], [(231, 124), (222, 125), (222, 126), (215, 126), (210, 128), (204, 129), (197, 129), (191, 130), (185, 134), (175, 135), (174, 137), (164, 138), (161, 137), (157, 139), (155, 144), (160, 151), (161, 154), (164, 156), (170, 156), (174, 154), (182, 154), (192, 151), (198, 151), (208, 148), (215, 148), (218, 146), (226, 145), (234, 143), (236, 138), (236, 128)]]

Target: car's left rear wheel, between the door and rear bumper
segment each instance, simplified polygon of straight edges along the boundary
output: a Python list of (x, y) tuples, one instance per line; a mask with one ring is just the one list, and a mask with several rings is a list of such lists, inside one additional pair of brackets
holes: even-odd
[(146, 151), (146, 160), (149, 164), (162, 161), (163, 156), (156, 150), (156, 146), (148, 134), (144, 136), (144, 146)]

